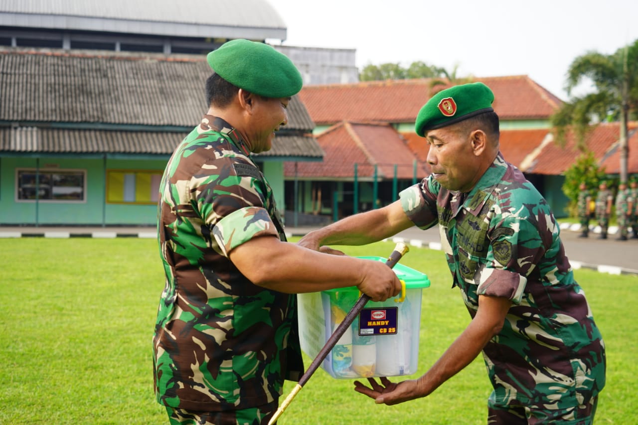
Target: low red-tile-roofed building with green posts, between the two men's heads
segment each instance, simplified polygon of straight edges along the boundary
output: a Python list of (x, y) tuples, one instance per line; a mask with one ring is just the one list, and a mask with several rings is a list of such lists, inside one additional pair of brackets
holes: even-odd
[[(373, 207), (373, 199), (388, 203), (399, 190), (429, 174), (406, 140), (388, 123), (334, 124), (316, 137), (325, 155), (322, 162), (286, 162), (284, 174), (301, 181), (301, 211), (338, 216)], [(422, 138), (422, 140), (425, 140)], [(286, 187), (286, 192), (295, 191)], [(334, 200), (334, 194), (338, 199)], [(286, 205), (286, 209), (293, 209)]]

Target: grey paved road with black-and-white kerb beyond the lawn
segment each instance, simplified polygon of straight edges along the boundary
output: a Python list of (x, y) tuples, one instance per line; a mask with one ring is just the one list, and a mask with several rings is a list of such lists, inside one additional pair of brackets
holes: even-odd
[[(311, 228), (286, 228), (291, 235), (304, 235)], [(609, 239), (597, 239), (591, 233), (587, 239), (578, 237), (579, 232), (563, 228), (561, 239), (565, 252), (574, 269), (589, 268), (612, 274), (635, 274), (638, 276), (638, 239), (617, 241), (616, 235)], [(144, 237), (155, 238), (154, 227), (0, 227), (3, 237)], [(432, 249), (440, 249), (438, 227), (429, 230), (411, 228), (396, 237), (406, 242)], [(1, 241), (0, 241), (1, 243)]]

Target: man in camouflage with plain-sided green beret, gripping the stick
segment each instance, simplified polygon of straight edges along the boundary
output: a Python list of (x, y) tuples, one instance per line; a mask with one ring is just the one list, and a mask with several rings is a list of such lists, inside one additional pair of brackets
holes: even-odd
[[(283, 380), (299, 380), (298, 292), (401, 290), (382, 262), (285, 242), (271, 187), (251, 153), (288, 122), (299, 71), (263, 43), (208, 56), (209, 110), (175, 149), (158, 205), (166, 274), (153, 338), (156, 398), (171, 424), (265, 424)], [(330, 267), (326, 267), (326, 265)]]

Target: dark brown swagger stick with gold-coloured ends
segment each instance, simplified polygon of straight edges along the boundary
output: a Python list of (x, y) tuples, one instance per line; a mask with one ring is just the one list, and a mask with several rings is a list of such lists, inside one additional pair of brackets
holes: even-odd
[[(401, 257), (403, 257), (403, 255), (405, 255), (408, 250), (408, 246), (403, 242), (397, 243), (394, 247), (394, 251), (392, 251), (390, 257), (388, 257), (388, 259), (385, 261), (385, 265), (392, 269), (392, 267), (394, 267), (394, 265), (396, 265), (397, 262), (401, 260)], [(290, 405), (292, 399), (297, 396), (297, 393), (301, 391), (301, 388), (306, 384), (306, 382), (308, 382), (310, 377), (313, 376), (313, 373), (315, 373), (321, 362), (325, 359), (330, 350), (332, 350), (337, 341), (339, 341), (339, 338), (343, 336), (346, 329), (350, 327), (352, 322), (355, 320), (355, 317), (357, 317), (357, 315), (361, 312), (361, 309), (366, 305), (366, 302), (368, 301), (370, 301), (370, 297), (368, 297), (366, 294), (362, 294), (359, 297), (359, 300), (355, 303), (352, 309), (348, 311), (346, 317), (343, 318), (343, 322), (341, 322), (341, 324), (338, 325), (337, 329), (334, 330), (319, 354), (317, 354), (317, 357), (315, 357), (315, 360), (313, 360), (313, 362), (310, 364), (308, 370), (306, 370), (306, 373), (301, 376), (297, 385), (295, 385), (290, 394), (288, 394), (288, 397), (286, 397), (283, 403), (281, 403), (281, 406), (279, 406), (275, 414), (272, 416), (271, 420), (268, 422), (268, 425), (272, 425), (277, 422), (279, 416), (283, 414), (283, 411), (286, 410), (286, 407), (288, 407), (288, 405)]]

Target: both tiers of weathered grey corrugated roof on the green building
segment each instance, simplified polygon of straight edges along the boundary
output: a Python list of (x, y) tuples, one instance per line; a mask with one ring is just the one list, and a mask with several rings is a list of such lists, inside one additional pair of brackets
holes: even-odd
[[(211, 73), (192, 55), (0, 47), (0, 151), (170, 154), (207, 111)], [(314, 128), (293, 96), (263, 156), (321, 158)]]

